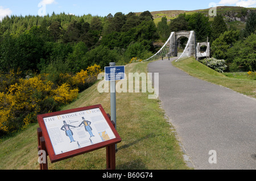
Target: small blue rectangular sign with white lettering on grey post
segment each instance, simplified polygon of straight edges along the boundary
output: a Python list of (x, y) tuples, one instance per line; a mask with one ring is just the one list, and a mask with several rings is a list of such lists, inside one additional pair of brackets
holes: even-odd
[(120, 81), (125, 79), (125, 66), (106, 66), (105, 81)]

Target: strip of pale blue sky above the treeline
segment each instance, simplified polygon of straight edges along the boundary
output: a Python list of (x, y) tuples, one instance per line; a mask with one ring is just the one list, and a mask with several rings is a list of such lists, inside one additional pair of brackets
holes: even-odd
[[(143, 12), (161, 10), (198, 10), (209, 8), (210, 3), (216, 6), (243, 6), (256, 7), (256, 0), (7, 0), (0, 1), (0, 20), (6, 15), (40, 15), (43, 13), (56, 14), (65, 12), (66, 14), (92, 14), (106, 16), (116, 12)], [(42, 6), (44, 5), (44, 6)], [(213, 6), (210, 6), (213, 7)]]

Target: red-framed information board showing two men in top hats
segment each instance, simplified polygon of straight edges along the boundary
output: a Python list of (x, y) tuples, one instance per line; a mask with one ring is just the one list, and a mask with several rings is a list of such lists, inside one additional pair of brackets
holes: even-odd
[(38, 115), (51, 162), (121, 142), (101, 105)]

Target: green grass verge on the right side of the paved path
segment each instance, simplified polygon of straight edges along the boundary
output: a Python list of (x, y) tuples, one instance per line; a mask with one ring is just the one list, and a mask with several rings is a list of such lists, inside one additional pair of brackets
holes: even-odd
[(224, 86), (240, 92), (241, 94), (256, 98), (256, 81), (254, 79), (246, 78), (242, 73), (236, 73), (238, 77), (231, 76), (232, 73), (221, 74), (201, 64), (192, 57), (179, 62), (172, 62), (172, 64), (193, 77), (197, 77), (216, 85)]

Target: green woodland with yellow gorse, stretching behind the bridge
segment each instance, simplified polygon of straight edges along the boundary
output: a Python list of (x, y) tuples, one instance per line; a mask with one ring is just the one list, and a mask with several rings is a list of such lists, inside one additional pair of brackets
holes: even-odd
[(224, 59), (227, 71), (255, 71), (256, 12), (245, 13), (245, 30), (228, 28), (221, 14), (210, 20), (200, 12), (158, 24), (149, 11), (6, 16), (0, 22), (0, 136), (75, 100), (109, 62), (152, 56), (172, 31), (194, 30), (197, 42), (209, 37), (212, 56)]

